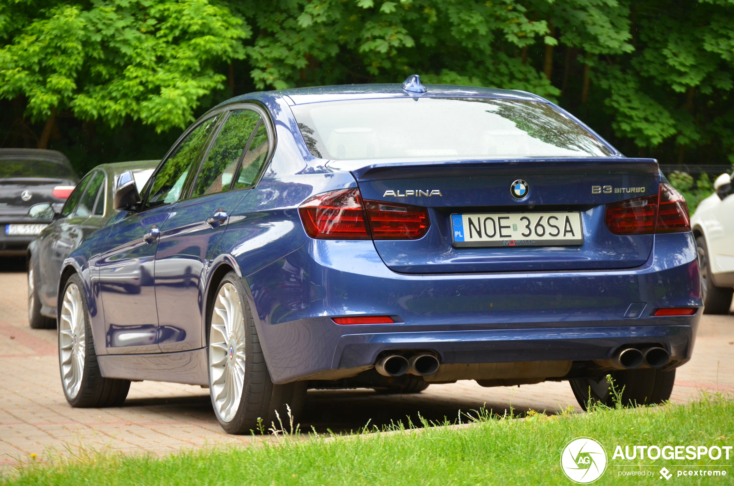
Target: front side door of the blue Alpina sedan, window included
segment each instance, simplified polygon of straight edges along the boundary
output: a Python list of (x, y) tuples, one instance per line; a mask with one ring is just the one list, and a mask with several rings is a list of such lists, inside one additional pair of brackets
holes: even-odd
[(179, 139), (143, 190), (139, 212), (112, 223), (97, 262), (109, 354), (160, 352), (153, 275), (159, 235), (185, 193), (217, 118), (196, 123)]

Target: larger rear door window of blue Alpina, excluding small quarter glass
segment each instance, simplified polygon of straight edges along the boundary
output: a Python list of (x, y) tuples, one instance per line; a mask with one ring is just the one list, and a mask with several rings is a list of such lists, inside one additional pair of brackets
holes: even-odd
[(230, 112), (202, 164), (192, 197), (230, 189), (244, 150), (260, 119), (257, 112), (249, 109)]

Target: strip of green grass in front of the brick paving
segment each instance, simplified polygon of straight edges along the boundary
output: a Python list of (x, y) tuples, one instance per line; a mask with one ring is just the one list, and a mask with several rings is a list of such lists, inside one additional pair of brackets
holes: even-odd
[[(571, 439), (599, 440), (608, 466), (595, 485), (660, 484), (658, 471), (679, 465), (715, 463), (726, 477), (672, 479), (685, 484), (729, 484), (730, 460), (613, 460), (617, 445), (734, 445), (731, 396), (704, 395), (689, 405), (597, 409), (581, 415), (525, 420), (484, 418), (465, 428), (428, 427), (420, 432), (377, 433), (350, 438), (280, 438), (238, 449), (182, 452), (164, 458), (124, 454), (81, 454), (31, 460), (6, 471), (5, 485), (571, 485), (559, 457)], [(654, 476), (622, 478), (625, 464), (654, 464)], [(723, 465), (730, 467), (722, 468)], [(644, 468), (643, 468), (644, 469)], [(630, 483), (633, 482), (633, 483)]]

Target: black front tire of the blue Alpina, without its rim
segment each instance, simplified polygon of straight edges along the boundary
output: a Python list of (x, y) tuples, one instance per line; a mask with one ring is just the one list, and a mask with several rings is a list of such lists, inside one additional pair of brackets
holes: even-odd
[[(64, 371), (62, 366), (61, 369), (61, 380), (62, 389), (66, 401), (69, 405), (75, 408), (101, 408), (101, 407), (119, 407), (123, 405), (128, 391), (130, 390), (130, 380), (117, 380), (114, 378), (105, 378), (102, 376), (99, 369), (99, 363), (97, 361), (97, 353), (94, 347), (94, 338), (92, 336), (92, 327), (90, 326), (89, 308), (87, 307), (87, 295), (84, 293), (84, 285), (81, 282), (79, 275), (72, 275), (67, 280), (64, 286), (64, 293), (62, 299), (59, 300), (59, 309), (57, 309), (59, 319), (62, 316), (61, 306), (63, 305), (63, 296), (66, 294), (67, 289), (76, 285), (81, 293), (81, 304), (84, 310), (84, 326), (85, 326), (85, 350), (86, 355), (84, 356), (84, 371), (81, 374), (81, 385), (79, 385), (79, 391), (76, 396), (69, 396), (67, 387), (64, 385)], [(62, 361), (62, 326), (59, 325), (59, 363)]]

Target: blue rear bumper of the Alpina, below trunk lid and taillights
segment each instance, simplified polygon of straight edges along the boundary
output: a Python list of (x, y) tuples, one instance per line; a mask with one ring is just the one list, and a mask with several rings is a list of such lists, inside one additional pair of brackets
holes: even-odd
[[(309, 240), (246, 280), (276, 383), (348, 377), (390, 349), (431, 349), (443, 364), (506, 363), (603, 360), (625, 344), (655, 343), (680, 366), (702, 306), (691, 233), (656, 236), (635, 269), (470, 275), (398, 274), (371, 242)], [(633, 302), (645, 302), (644, 311), (625, 318)], [(652, 316), (666, 307), (699, 310)], [(355, 313), (403, 322), (331, 320)]]

